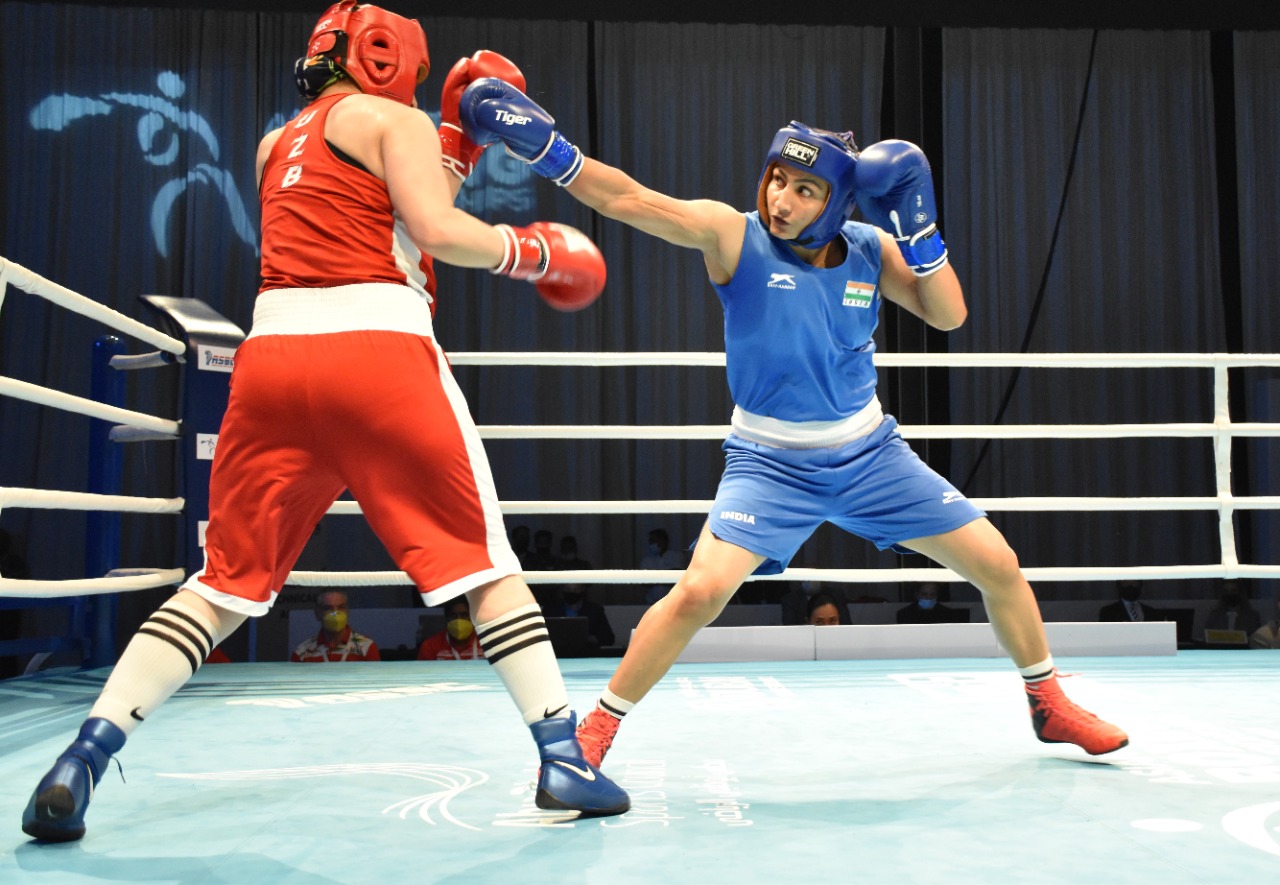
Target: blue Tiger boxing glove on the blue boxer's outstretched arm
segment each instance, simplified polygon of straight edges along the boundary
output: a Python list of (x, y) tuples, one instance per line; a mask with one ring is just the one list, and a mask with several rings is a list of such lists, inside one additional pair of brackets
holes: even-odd
[(500, 141), (508, 154), (561, 187), (582, 170), (582, 151), (556, 131), (550, 114), (506, 81), (483, 77), (471, 83), (462, 92), (458, 118), (467, 138), (477, 145)]

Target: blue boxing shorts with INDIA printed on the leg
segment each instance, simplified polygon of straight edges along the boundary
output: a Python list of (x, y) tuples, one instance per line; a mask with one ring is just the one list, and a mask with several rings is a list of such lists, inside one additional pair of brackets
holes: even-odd
[(721, 540), (787, 567), (823, 523), (879, 549), (968, 525), (986, 514), (916, 456), (886, 415), (865, 437), (831, 448), (776, 448), (731, 434), (708, 525)]

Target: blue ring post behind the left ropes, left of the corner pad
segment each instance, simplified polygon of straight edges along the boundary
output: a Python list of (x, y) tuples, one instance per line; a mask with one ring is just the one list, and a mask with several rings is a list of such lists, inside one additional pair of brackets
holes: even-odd
[[(91, 396), (97, 402), (124, 406), (124, 378), (111, 366), (111, 357), (124, 352), (115, 336), (100, 336), (93, 342)], [(88, 491), (93, 494), (119, 494), (124, 474), (119, 444), (111, 442), (111, 423), (90, 421)], [(114, 511), (88, 511), (86, 519), (84, 574), (102, 578), (120, 561), (120, 515)], [(109, 667), (115, 663), (115, 617), (119, 596), (104, 593), (78, 597), (73, 611), (77, 628), (87, 643), (84, 665)], [(83, 620), (82, 620), (83, 619)]]

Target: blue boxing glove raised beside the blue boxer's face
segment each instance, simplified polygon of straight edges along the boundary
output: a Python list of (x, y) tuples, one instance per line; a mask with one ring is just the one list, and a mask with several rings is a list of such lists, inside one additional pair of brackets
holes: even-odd
[(909, 141), (878, 141), (858, 156), (855, 181), (863, 218), (893, 237), (916, 277), (947, 263), (924, 151)]

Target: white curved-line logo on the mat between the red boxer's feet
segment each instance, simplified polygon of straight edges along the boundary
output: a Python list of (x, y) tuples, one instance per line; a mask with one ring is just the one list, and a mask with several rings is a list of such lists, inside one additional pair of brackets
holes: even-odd
[(332, 780), (333, 777), (357, 776), (390, 776), (415, 781), (426, 781), (429, 784), (434, 784), (439, 789), (392, 803), (390, 806), (383, 808), (381, 813), (394, 813), (401, 820), (407, 820), (410, 813), (416, 812), (421, 821), (435, 826), (438, 821), (433, 817), (434, 813), (439, 816), (440, 824), (452, 824), (462, 827), (463, 830), (479, 830), (480, 827), (458, 820), (449, 808), (449, 803), (466, 790), (470, 790), (472, 786), (480, 786), (489, 780), (489, 775), (475, 768), (462, 768), (452, 765), (430, 765), (426, 762), (335, 763), (301, 766), (297, 768), (160, 774), (159, 776), (200, 781), (260, 783), (270, 780), (303, 780), (311, 777)]

